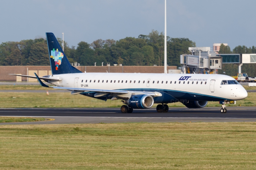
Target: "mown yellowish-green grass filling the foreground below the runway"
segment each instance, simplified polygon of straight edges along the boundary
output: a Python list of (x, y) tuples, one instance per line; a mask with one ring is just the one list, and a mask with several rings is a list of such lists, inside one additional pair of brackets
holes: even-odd
[(256, 169), (256, 123), (0, 125), (0, 169)]

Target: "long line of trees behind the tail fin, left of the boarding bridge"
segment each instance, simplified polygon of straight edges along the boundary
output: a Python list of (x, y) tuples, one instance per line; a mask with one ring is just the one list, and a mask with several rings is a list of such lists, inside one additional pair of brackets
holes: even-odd
[[(62, 39), (57, 38), (62, 46)], [(189, 54), (188, 47), (195, 42), (188, 38), (167, 37), (167, 64), (180, 66), (180, 54)], [(120, 40), (97, 39), (91, 44), (81, 41), (77, 47), (69, 47), (64, 41), (64, 53), (70, 63), (82, 66), (100, 66), (110, 63), (138, 66), (164, 65), (164, 34), (152, 30), (138, 38), (126, 37)], [(45, 38), (4, 42), (0, 45), (0, 65), (50, 65)]]

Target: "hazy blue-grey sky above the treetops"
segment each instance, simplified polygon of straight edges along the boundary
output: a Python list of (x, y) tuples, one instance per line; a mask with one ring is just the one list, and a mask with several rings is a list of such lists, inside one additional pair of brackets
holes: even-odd
[[(256, 46), (255, 0), (166, 0), (167, 36)], [(8, 0), (0, 2), (0, 43), (52, 32), (69, 46), (164, 32), (164, 0)]]

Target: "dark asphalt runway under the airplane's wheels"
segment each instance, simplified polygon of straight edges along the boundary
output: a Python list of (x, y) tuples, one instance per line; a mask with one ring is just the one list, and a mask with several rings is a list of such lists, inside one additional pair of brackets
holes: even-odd
[[(48, 121), (3, 124), (58, 124), (58, 123), (122, 123), (122, 122), (255, 122), (256, 107), (220, 107), (188, 109), (172, 107), (167, 113), (155, 108), (122, 114), (119, 108), (2, 108), (0, 116), (44, 117)], [(54, 119), (54, 120), (53, 120)], [(50, 120), (50, 121), (49, 121)]]

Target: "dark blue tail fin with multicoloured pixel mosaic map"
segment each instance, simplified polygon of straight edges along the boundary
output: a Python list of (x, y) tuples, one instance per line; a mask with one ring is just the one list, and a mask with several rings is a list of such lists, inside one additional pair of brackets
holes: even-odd
[(63, 52), (59, 42), (51, 32), (46, 32), (48, 52), (52, 74), (79, 73), (77, 68), (73, 67)]

